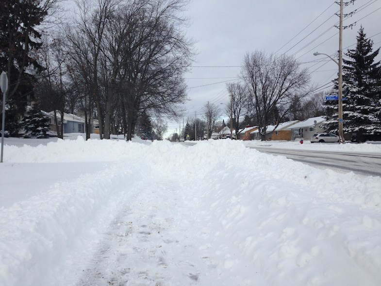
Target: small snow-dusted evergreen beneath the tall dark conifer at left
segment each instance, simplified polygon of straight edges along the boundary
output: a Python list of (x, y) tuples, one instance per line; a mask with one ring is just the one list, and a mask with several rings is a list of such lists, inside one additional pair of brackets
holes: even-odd
[(30, 108), (21, 121), (25, 129), (24, 138), (48, 138), (49, 121), (36, 106)]

